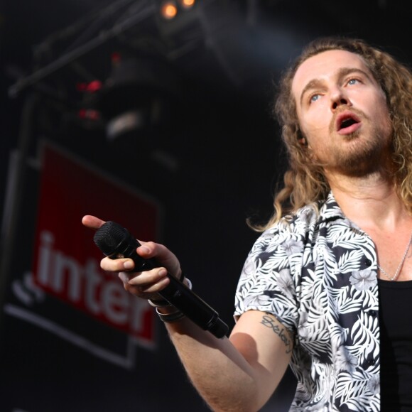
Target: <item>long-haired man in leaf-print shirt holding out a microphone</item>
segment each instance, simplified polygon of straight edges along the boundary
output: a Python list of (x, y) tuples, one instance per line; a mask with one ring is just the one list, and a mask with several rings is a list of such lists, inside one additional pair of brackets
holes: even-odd
[[(276, 113), (290, 169), (244, 264), (228, 339), (158, 300), (166, 269), (102, 260), (158, 306), (214, 411), (258, 411), (288, 364), (291, 410), (412, 407), (411, 95), (411, 72), (360, 40), (315, 40), (286, 73)], [(137, 250), (180, 276), (165, 246)]]

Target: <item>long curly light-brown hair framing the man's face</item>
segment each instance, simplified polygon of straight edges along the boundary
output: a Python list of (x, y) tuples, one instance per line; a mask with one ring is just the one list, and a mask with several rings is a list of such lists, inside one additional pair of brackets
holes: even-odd
[(300, 131), (295, 99), (291, 93), (293, 77), (308, 58), (327, 50), (346, 50), (362, 56), (386, 95), (393, 129), (394, 184), (399, 197), (412, 212), (412, 74), (406, 65), (389, 53), (352, 38), (319, 38), (309, 43), (295, 63), (287, 70), (278, 85), (273, 114), (282, 129), (282, 139), (288, 153), (288, 170), (283, 176), (283, 189), (274, 197), (274, 211), (269, 222), (252, 225), (263, 231), (304, 205), (326, 200), (330, 192), (322, 166), (313, 163), (305, 150)]

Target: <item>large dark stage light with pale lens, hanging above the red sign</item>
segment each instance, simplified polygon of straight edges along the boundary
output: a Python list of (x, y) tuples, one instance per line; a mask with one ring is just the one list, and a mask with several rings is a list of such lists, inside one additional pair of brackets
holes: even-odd
[(93, 96), (93, 108), (102, 114), (108, 141), (133, 143), (143, 150), (170, 124), (179, 94), (178, 79), (166, 61), (116, 53), (112, 72)]

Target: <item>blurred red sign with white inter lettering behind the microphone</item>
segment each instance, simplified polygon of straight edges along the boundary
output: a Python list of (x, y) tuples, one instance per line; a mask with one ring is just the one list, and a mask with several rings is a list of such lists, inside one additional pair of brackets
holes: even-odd
[(87, 315), (150, 344), (154, 341), (153, 308), (124, 291), (113, 273), (100, 269), (102, 252), (81, 219), (96, 215), (123, 224), (138, 239), (156, 239), (159, 205), (55, 148), (45, 146), (43, 154), (33, 259), (36, 284)]

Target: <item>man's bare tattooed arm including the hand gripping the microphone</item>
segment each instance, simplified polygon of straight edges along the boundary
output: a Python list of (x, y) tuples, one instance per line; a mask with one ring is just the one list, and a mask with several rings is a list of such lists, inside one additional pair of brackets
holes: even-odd
[[(98, 229), (104, 222), (84, 217), (83, 224)], [(140, 241), (139, 241), (140, 242)], [(156, 259), (169, 273), (180, 276), (178, 259), (165, 246), (141, 242), (137, 253)], [(124, 288), (146, 299), (158, 299), (169, 282), (166, 269), (141, 273), (131, 259), (102, 259), (102, 269), (119, 272)], [(173, 308), (161, 308), (165, 313)], [(291, 359), (292, 337), (273, 315), (251, 310), (244, 313), (229, 337), (217, 339), (190, 320), (166, 323), (170, 340), (193, 385), (214, 411), (258, 411), (278, 386)]]

